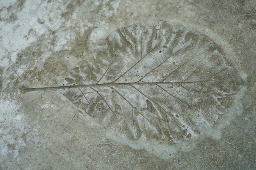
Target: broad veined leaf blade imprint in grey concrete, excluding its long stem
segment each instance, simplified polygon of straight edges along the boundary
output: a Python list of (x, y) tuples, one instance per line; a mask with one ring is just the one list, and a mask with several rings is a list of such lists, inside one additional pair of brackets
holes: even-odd
[(63, 95), (118, 137), (189, 140), (212, 130), (229, 107), (220, 101), (243, 84), (218, 48), (165, 22), (124, 27), (71, 71), (64, 84), (84, 86)]

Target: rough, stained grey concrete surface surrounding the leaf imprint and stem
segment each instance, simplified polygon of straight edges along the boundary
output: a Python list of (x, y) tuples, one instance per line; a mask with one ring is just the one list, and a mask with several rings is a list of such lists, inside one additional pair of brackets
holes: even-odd
[[(255, 169), (255, 8), (254, 0), (1, 2), (0, 169)], [(79, 112), (63, 96), (63, 90), (20, 93), (19, 88), (24, 86), (73, 83), (76, 79), (72, 79), (70, 71), (78, 73), (76, 67), (81, 66), (81, 61), (87, 61), (83, 62), (85, 69), (94, 73), (91, 80), (110, 81), (111, 77), (100, 76), (101, 70), (92, 64), (95, 56), (108, 58), (109, 35), (137, 23), (160, 28), (160, 21), (174, 24), (177, 30), (185, 26), (207, 36), (216, 44), (218, 61), (232, 69), (229, 79), (233, 77), (238, 84), (242, 79), (243, 94), (231, 84), (229, 88), (234, 91), (226, 91), (227, 95), (218, 100), (222, 106), (237, 107), (217, 114), (218, 124), (211, 124), (219, 130), (217, 135), (200, 133), (196, 142), (187, 145), (144, 141), (136, 148), (136, 141), (133, 145), (111, 138), (104, 125)], [(160, 54), (164, 52), (158, 51)], [(99, 60), (102, 66), (110, 61)], [(163, 78), (165, 72), (159, 73), (155, 71), (151, 76)], [(144, 77), (136, 75), (137, 81)], [(110, 107), (118, 112), (123, 105)], [(101, 108), (100, 104), (95, 108)], [(139, 110), (143, 108), (159, 110), (146, 98)]]

